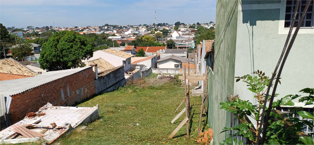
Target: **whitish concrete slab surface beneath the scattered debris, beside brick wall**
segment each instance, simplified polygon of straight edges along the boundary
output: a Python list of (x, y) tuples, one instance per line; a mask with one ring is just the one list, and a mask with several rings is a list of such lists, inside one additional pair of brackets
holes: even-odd
[[(39, 113), (39, 112), (36, 112)], [(48, 143), (52, 143), (61, 135), (67, 134), (73, 128), (81, 124), (90, 123), (99, 118), (99, 109), (98, 105), (95, 107), (63, 107), (63, 106), (53, 106), (42, 110), (40, 113), (46, 113), (46, 115), (41, 117), (34, 117), (32, 119), (24, 118), (14, 125), (28, 125), (34, 123), (36, 120), (41, 120), (41, 122), (35, 124), (37, 127), (32, 127), (31, 130), (40, 132), (42, 130), (48, 129), (44, 134), (45, 137), (42, 137), (42, 140)], [(53, 128), (51, 123), (56, 123), (59, 128)], [(33, 124), (34, 125), (34, 124)], [(64, 128), (64, 131), (60, 131), (60, 127)], [(12, 134), (13, 127), (9, 126), (8, 128), (0, 131), (0, 144), (13, 142), (21, 142), (21, 138), (24, 138), (21, 135), (14, 135), (8, 137)], [(61, 129), (62, 130), (62, 129)], [(6, 139), (7, 138), (7, 139)], [(15, 140), (14, 140), (15, 139)], [(16, 141), (16, 139), (19, 139)], [(34, 139), (25, 139), (23, 141), (31, 141)]]

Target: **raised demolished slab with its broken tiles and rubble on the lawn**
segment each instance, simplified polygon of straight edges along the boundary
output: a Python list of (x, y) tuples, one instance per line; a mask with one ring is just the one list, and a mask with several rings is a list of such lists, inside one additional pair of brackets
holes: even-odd
[[(29, 118), (30, 114), (31, 117)], [(39, 140), (51, 144), (59, 137), (68, 134), (78, 125), (98, 119), (99, 109), (98, 104), (94, 107), (63, 107), (52, 106), (49, 103), (34, 114), (29, 113), (23, 120), (0, 131), (0, 144), (35, 142)], [(18, 130), (16, 130), (17, 126), (20, 127)], [(35, 134), (42, 134), (42, 136), (35, 137)]]

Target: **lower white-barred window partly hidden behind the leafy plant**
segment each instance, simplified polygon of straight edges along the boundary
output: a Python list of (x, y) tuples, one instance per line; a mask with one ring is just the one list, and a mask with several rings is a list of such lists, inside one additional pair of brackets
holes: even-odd
[[(290, 117), (296, 117), (299, 119), (303, 119), (303, 118), (301, 116), (299, 116), (298, 114), (296, 114), (296, 112), (306, 111), (306, 112), (309, 112), (310, 114), (313, 114), (313, 110), (314, 110), (313, 108), (301, 108), (301, 107), (299, 107), (299, 108), (282, 107), (282, 108), (276, 108), (276, 109), (280, 110), (281, 113), (287, 114)], [(314, 122), (312, 119), (305, 119), (305, 120), (310, 121), (314, 125)], [(311, 135), (311, 133), (313, 133), (313, 130), (311, 130), (311, 128), (308, 125), (303, 126), (302, 131), (308, 135)], [(313, 134), (311, 136), (314, 137)]]

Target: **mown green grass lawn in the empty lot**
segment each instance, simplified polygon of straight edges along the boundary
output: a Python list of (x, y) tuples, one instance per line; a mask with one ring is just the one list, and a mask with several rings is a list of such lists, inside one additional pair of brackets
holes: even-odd
[[(148, 79), (155, 77), (153, 74)], [(186, 125), (172, 139), (167, 139), (185, 118), (184, 113), (174, 124), (170, 123), (185, 107), (183, 104), (174, 113), (185, 97), (184, 87), (172, 83), (143, 84), (145, 83), (120, 87), (117, 91), (104, 93), (78, 104), (79, 107), (99, 104), (100, 119), (86, 125), (81, 131), (78, 126), (54, 144), (197, 144), (195, 140), (201, 97), (190, 97), (190, 139), (186, 137)], [(205, 118), (203, 117), (203, 125)]]

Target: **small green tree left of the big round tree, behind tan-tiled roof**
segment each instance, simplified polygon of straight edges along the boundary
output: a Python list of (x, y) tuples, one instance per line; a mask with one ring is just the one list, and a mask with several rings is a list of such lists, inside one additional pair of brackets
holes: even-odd
[(17, 61), (23, 61), (24, 57), (29, 56), (34, 50), (30, 43), (20, 43), (11, 49), (13, 58)]

